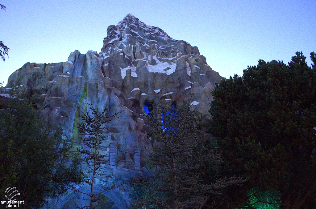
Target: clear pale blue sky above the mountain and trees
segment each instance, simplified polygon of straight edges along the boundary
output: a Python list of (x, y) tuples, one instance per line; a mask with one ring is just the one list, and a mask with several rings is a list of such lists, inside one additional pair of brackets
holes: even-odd
[(100, 52), (106, 29), (131, 13), (174, 39), (197, 46), (210, 67), (228, 78), (248, 65), (288, 62), (316, 51), (316, 1), (61, 1), (2, 0), (0, 40), (9, 59), (0, 80), (26, 62), (64, 62), (75, 49)]

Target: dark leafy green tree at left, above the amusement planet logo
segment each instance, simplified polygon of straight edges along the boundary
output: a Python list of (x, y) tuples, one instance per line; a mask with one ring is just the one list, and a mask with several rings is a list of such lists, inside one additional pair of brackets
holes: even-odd
[[(14, 100), (0, 112), (0, 193), (16, 187), (20, 208), (41, 208), (80, 180), (79, 164), (69, 160), (70, 145), (60, 129), (37, 118), (27, 100)], [(5, 205), (4, 205), (5, 206)]]

